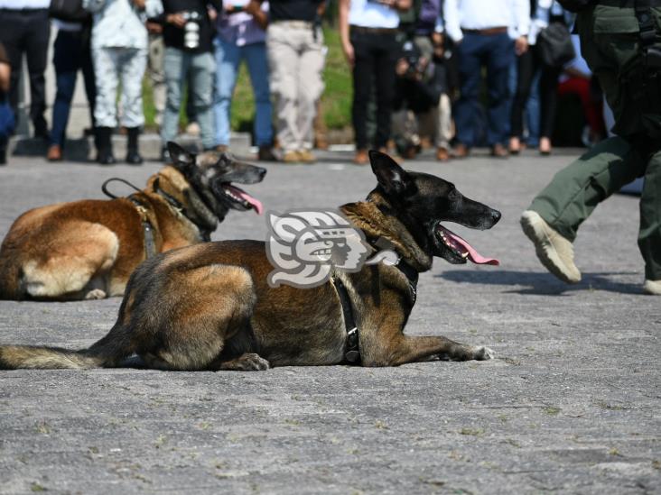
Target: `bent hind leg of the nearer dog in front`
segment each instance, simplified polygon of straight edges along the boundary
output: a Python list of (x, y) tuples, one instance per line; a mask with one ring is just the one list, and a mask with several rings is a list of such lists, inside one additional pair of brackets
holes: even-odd
[(133, 309), (132, 325), (144, 329), (138, 354), (147, 366), (180, 371), (268, 367), (268, 362), (251, 354), (252, 344), (235, 346), (237, 342), (249, 341), (244, 336), (249, 333), (256, 302), (247, 270), (205, 265), (169, 270), (166, 277), (167, 285), (158, 294), (152, 294), (154, 304), (160, 308)]

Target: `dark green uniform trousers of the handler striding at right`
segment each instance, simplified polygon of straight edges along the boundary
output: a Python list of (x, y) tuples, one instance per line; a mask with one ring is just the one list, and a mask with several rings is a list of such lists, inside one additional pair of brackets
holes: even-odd
[[(661, 26), (661, 9), (653, 14)], [(661, 280), (661, 151), (650, 154), (636, 139), (661, 128), (661, 108), (650, 108), (648, 102), (641, 110), (639, 85), (645, 75), (639, 72), (638, 21), (632, 8), (597, 5), (578, 15), (577, 27), (582, 56), (599, 78), (615, 115), (613, 130), (622, 137), (600, 142), (558, 172), (530, 209), (573, 242), (579, 225), (601, 201), (645, 176), (638, 247), (646, 279)]]

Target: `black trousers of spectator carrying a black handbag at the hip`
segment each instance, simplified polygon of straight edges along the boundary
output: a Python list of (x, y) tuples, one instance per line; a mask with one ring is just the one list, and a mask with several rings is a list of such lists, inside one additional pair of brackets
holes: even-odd
[(531, 46), (517, 57), (517, 93), (512, 103), (511, 135), (523, 135), (523, 113), (530, 96), (535, 72), (541, 70), (539, 78), (539, 101), (541, 106), (539, 136), (550, 138), (554, 132), (555, 108), (558, 102), (558, 78), (562, 67), (550, 67), (542, 62), (535, 46)]

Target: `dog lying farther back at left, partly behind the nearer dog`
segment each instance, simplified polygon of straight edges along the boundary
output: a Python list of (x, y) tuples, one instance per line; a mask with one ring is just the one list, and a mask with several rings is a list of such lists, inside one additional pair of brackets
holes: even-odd
[(209, 240), (230, 209), (262, 206), (232, 182), (266, 170), (228, 153), (168, 143), (173, 166), (130, 197), (41, 206), (19, 216), (0, 247), (0, 298), (71, 300), (124, 294), (129, 276), (158, 252)]

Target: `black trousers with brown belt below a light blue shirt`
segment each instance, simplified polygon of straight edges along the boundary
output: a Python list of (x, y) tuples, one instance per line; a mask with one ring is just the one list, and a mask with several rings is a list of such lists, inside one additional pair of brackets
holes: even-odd
[(377, 104), (377, 133), (373, 145), (383, 148), (390, 138), (393, 114), (395, 65), (399, 53), (396, 32), (352, 29), (350, 41), (355, 56), (351, 118), (356, 133), (356, 149), (368, 148), (368, 103), (373, 88)]

